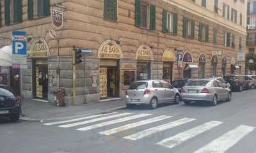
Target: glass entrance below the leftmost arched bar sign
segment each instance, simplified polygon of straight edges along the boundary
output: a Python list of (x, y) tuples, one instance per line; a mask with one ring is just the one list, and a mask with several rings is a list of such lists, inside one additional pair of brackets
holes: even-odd
[(33, 68), (34, 97), (48, 99), (48, 65), (47, 61), (35, 61)]

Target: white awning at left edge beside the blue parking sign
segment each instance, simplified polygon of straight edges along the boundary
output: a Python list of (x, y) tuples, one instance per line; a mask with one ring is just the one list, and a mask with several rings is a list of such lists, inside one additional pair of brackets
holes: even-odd
[(12, 66), (12, 47), (0, 48), (0, 66)]

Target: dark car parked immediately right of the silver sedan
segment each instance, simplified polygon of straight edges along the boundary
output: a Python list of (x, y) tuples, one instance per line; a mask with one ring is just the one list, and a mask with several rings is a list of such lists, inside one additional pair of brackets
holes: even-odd
[(230, 84), (230, 89), (232, 91), (241, 92), (248, 89), (248, 82), (246, 82), (241, 75), (226, 75), (224, 79)]

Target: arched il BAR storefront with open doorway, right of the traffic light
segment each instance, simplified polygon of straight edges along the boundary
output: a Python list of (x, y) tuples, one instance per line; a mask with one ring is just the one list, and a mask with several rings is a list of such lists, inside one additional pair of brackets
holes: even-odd
[(98, 57), (100, 59), (100, 99), (118, 98), (122, 51), (115, 41), (107, 40), (100, 46)]

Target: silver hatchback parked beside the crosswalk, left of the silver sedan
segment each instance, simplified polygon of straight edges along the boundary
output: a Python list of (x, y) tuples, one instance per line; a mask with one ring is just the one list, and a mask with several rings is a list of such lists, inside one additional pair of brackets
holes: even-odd
[(155, 109), (159, 103), (179, 104), (179, 91), (163, 80), (141, 80), (132, 82), (126, 91), (126, 106), (147, 104)]

